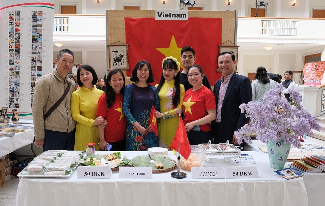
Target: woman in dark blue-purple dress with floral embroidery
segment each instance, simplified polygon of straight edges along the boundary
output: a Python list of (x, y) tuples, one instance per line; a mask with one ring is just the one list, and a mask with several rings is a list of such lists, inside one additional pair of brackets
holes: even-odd
[[(158, 137), (151, 130), (149, 117), (152, 105), (160, 111), (158, 91), (149, 85), (154, 82), (149, 62), (136, 63), (131, 75), (135, 83), (125, 87), (122, 111), (126, 117), (126, 151), (147, 151), (158, 147)], [(157, 119), (157, 122), (159, 119)]]

